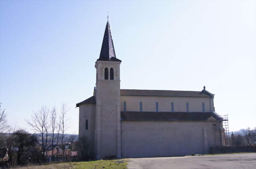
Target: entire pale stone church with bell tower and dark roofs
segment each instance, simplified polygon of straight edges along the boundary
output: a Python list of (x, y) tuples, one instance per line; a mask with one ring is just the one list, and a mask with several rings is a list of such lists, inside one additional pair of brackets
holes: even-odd
[[(95, 62), (93, 96), (79, 107), (79, 140), (93, 159), (209, 154), (223, 146), (223, 118), (214, 94), (202, 91), (120, 89), (120, 65), (109, 22)], [(124, 77), (125, 78), (125, 77)]]

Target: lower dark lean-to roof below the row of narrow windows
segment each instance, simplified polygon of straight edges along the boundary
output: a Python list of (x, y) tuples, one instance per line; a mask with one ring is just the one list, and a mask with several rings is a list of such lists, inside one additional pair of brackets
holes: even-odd
[(121, 112), (122, 121), (208, 121), (210, 117), (223, 121), (214, 112)]

